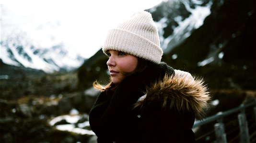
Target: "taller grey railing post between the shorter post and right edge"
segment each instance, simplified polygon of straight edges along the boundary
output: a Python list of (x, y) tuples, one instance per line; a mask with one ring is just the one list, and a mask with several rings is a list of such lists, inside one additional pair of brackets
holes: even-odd
[(238, 122), (240, 127), (240, 142), (241, 143), (250, 143), (250, 136), (248, 130), (248, 123), (245, 119), (243, 113), (238, 114)]

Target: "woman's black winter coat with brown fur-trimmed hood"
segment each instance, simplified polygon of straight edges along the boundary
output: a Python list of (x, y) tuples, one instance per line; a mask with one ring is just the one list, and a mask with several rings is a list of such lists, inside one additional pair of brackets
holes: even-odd
[(193, 143), (206, 90), (201, 80), (160, 63), (101, 92), (89, 122), (98, 143)]

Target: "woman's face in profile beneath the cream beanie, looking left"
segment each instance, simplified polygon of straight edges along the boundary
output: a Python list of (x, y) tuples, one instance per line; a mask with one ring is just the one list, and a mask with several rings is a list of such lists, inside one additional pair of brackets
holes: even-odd
[(107, 67), (110, 72), (111, 81), (115, 84), (122, 82), (126, 76), (132, 74), (138, 65), (138, 58), (136, 56), (122, 51), (108, 50), (107, 55), (109, 58)]

